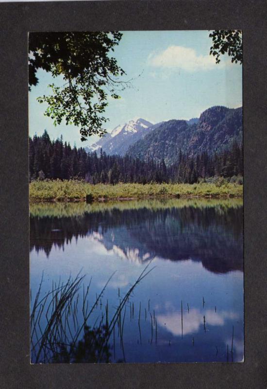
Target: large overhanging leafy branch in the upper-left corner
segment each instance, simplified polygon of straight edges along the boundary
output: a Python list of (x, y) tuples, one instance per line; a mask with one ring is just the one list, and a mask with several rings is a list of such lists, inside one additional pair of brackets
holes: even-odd
[(107, 93), (119, 98), (118, 90), (128, 83), (118, 77), (125, 71), (109, 55), (118, 45), (119, 32), (57, 32), (31, 33), (29, 35), (29, 85), (38, 83), (38, 69), (62, 76), (64, 85), (49, 87), (50, 96), (41, 96), (39, 103), (48, 103), (45, 115), (54, 125), (66, 124), (80, 127), (81, 140), (92, 134), (103, 135), (102, 116), (107, 106)]

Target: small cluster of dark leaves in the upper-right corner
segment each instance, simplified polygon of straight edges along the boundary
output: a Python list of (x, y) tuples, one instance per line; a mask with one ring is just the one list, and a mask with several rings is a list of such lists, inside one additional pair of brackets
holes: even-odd
[(212, 38), (210, 55), (214, 55), (216, 63), (220, 62), (220, 55), (227, 53), (234, 63), (243, 62), (242, 31), (241, 30), (214, 30), (209, 35)]

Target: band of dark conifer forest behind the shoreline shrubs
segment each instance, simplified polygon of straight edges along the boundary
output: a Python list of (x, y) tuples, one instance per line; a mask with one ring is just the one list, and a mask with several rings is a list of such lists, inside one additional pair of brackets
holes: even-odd
[(243, 174), (242, 147), (234, 142), (229, 150), (209, 156), (207, 153), (188, 156), (179, 151), (177, 162), (166, 166), (165, 160), (141, 160), (130, 156), (107, 155), (100, 150), (86, 153), (80, 147), (63, 143), (62, 137), (50, 141), (45, 131), (41, 137), (29, 139), (30, 180), (39, 177), (52, 179), (80, 178), (87, 182), (185, 182), (195, 183), (199, 178), (213, 176), (233, 177)]

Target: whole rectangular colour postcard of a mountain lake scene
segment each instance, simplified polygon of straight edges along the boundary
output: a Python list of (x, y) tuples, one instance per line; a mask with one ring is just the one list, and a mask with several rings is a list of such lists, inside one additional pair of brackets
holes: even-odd
[(29, 33), (31, 363), (242, 362), (242, 31)]

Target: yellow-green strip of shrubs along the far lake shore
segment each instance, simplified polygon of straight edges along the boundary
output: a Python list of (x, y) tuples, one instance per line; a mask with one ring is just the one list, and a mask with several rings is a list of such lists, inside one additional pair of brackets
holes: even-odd
[(242, 197), (243, 185), (219, 180), (198, 184), (89, 184), (81, 180), (35, 180), (30, 183), (31, 202), (127, 200), (148, 197)]

